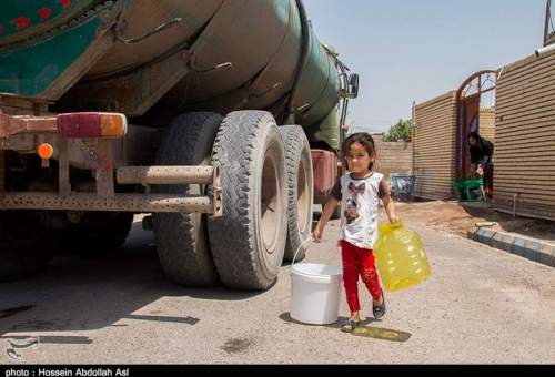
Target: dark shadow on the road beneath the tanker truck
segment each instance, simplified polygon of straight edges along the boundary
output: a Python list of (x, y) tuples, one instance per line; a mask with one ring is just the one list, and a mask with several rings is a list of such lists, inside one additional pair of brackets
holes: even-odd
[[(189, 316), (164, 316), (161, 310), (135, 313), (164, 297), (242, 300), (260, 292), (223, 287), (188, 288), (173, 284), (160, 267), (153, 235), (133, 225), (121, 249), (98, 257), (58, 255), (49, 267), (32, 277), (0, 283), (0, 338), (30, 332), (91, 330), (120, 319), (171, 322), (195, 325)], [(13, 335), (13, 336), (11, 336)], [(84, 343), (88, 337), (42, 337), (41, 342)]]

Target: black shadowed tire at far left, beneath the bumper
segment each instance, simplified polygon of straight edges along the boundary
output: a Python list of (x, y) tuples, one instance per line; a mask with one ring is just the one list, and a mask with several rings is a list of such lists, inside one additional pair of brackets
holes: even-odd
[(41, 225), (40, 213), (0, 212), (0, 282), (43, 269), (56, 251), (56, 235)]

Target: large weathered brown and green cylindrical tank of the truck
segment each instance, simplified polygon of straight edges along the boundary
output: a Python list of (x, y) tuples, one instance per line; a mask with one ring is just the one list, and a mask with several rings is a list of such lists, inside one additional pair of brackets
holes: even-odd
[(339, 129), (317, 130), (339, 101), (334, 57), (312, 28), (303, 41), (295, 0), (2, 1), (0, 93), (144, 119), (198, 109), (275, 115), (306, 42), (294, 121), (335, 147)]

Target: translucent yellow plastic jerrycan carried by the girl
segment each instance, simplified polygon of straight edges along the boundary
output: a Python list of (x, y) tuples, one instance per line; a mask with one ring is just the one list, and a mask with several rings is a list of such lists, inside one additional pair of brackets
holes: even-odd
[(408, 288), (430, 277), (422, 240), (402, 222), (380, 225), (374, 255), (382, 282), (390, 292)]

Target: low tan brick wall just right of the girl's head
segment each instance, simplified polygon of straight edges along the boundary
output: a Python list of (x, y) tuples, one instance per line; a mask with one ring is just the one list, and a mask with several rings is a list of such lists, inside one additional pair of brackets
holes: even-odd
[(391, 176), (391, 174), (411, 174), (413, 170), (413, 145), (406, 142), (387, 143), (382, 141), (381, 134), (374, 134), (377, 151), (375, 171)]

